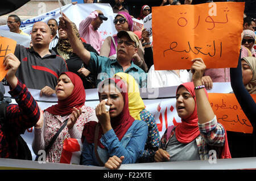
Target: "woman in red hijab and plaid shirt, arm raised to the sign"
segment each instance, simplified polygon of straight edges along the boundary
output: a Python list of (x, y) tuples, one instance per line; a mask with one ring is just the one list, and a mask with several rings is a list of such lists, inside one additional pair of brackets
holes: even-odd
[(226, 131), (217, 123), (201, 82), (205, 68), (201, 58), (194, 59), (193, 82), (177, 87), (176, 110), (181, 124), (169, 127), (163, 134), (156, 162), (231, 158)]

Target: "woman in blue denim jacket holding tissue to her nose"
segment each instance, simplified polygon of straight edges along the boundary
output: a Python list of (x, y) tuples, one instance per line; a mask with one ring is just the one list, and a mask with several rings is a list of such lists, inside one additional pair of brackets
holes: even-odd
[(86, 123), (82, 134), (82, 165), (105, 165), (117, 169), (119, 164), (109, 164), (109, 158), (135, 163), (144, 150), (148, 128), (144, 121), (131, 117), (125, 82), (105, 79), (99, 87), (99, 97), (100, 104), (96, 107), (98, 123)]

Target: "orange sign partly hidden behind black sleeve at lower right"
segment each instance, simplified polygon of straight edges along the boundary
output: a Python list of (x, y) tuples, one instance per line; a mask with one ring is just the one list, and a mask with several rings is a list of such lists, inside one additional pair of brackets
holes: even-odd
[[(256, 100), (256, 95), (251, 96)], [(234, 94), (209, 93), (209, 102), (217, 121), (224, 125), (226, 131), (253, 132), (253, 127)]]

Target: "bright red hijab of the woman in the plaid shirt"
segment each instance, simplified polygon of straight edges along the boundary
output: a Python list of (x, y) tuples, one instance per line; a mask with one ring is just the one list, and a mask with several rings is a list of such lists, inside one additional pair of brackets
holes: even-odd
[[(195, 86), (193, 82), (186, 82), (181, 84), (180, 86), (184, 86), (185, 89), (189, 91), (189, 93), (193, 96), (196, 103)], [(180, 88), (180, 86), (177, 87), (177, 90)], [(177, 91), (176, 91), (176, 94), (177, 94)], [(205, 90), (205, 94), (207, 95), (207, 98), (208, 98), (207, 90)], [(177, 140), (184, 144), (188, 144), (189, 142), (195, 140), (195, 138), (197, 138), (200, 135), (200, 131), (198, 127), (196, 104), (195, 104), (195, 110), (193, 111), (192, 115), (189, 116), (187, 119), (181, 119), (181, 124), (178, 124), (175, 129), (175, 135)], [(229, 145), (228, 145), (228, 138), (226, 136), (226, 130), (225, 130), (225, 144), (222, 149), (220, 158), (231, 158)]]

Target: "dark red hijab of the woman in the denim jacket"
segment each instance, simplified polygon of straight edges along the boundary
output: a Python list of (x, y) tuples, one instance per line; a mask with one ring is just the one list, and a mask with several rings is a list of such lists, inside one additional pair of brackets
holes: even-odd
[[(105, 79), (105, 81), (101, 83), (100, 87), (102, 87), (102, 85), (104, 84), (107, 85), (109, 81), (115, 84), (115, 87), (117, 87), (120, 90), (123, 96), (124, 105), (123, 105), (122, 112), (117, 117), (110, 117), (111, 126), (115, 132), (115, 135), (118, 137), (118, 140), (120, 141), (122, 137), (125, 135), (125, 133), (127, 132), (127, 130), (133, 124), (134, 118), (131, 117), (129, 112), (128, 93), (127, 93), (127, 87), (125, 85), (125, 82), (123, 82), (120, 79), (110, 78), (110, 79)], [(100, 92), (101, 91), (99, 91), (98, 94), (99, 94), (99, 97), (101, 98)], [(86, 141), (89, 144), (92, 144), (94, 142), (96, 125), (97, 125), (96, 121), (90, 121), (85, 124), (84, 131), (82, 132), (82, 142), (84, 142), (84, 138), (86, 138)], [(98, 146), (100, 146), (101, 148), (104, 148), (104, 146), (100, 142), (100, 138), (102, 137), (103, 134), (104, 133), (102, 131), (102, 128), (100, 127), (99, 133), (98, 133)]]

